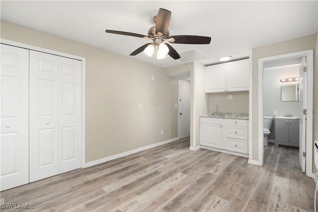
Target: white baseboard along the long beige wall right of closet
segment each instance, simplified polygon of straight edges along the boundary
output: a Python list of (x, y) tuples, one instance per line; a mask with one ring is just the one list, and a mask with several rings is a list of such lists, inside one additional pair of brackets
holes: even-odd
[(109, 156), (109, 157), (105, 157), (105, 158), (101, 158), (101, 159), (98, 159), (98, 160), (90, 161), (90, 162), (85, 163), (85, 168), (90, 167), (90, 166), (94, 166), (94, 165), (97, 165), (97, 164), (100, 164), (100, 163), (104, 163), (104, 162), (107, 162), (107, 161), (111, 161), (111, 160), (114, 160), (114, 159), (117, 159), (117, 158), (121, 158), (121, 157), (124, 157), (124, 156), (127, 156), (127, 155), (131, 155), (131, 154), (134, 154), (134, 153), (146, 150), (146, 149), (150, 149), (150, 148), (153, 148), (153, 147), (156, 147), (156, 146), (160, 146), (160, 145), (163, 145), (163, 144), (166, 144), (166, 143), (170, 143), (170, 142), (176, 141), (176, 140), (178, 140), (178, 138), (171, 138), (169, 140), (161, 141), (159, 143), (154, 143), (154, 144), (151, 144), (151, 145), (148, 145), (148, 146), (140, 147), (140, 148), (133, 149), (133, 150), (130, 150), (130, 151), (127, 151), (127, 152), (123, 152), (123, 153), (119, 153), (117, 155), (112, 155), (112, 156)]

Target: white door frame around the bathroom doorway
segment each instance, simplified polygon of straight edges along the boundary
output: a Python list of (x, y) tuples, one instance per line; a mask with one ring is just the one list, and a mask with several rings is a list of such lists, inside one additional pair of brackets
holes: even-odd
[[(305, 50), (289, 54), (258, 59), (258, 165), (262, 166), (264, 137), (263, 137), (263, 71), (264, 63), (289, 57), (307, 58), (307, 120), (306, 120), (306, 175), (313, 177), (313, 97), (314, 97), (314, 50)], [(304, 143), (305, 144), (305, 143)]]

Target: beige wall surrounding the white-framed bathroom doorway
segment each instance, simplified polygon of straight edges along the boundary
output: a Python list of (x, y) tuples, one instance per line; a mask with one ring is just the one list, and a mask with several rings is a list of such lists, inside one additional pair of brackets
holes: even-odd
[(258, 59), (264, 57), (270, 57), (275, 55), (288, 54), (292, 52), (304, 51), (314, 49), (314, 132), (317, 134), (317, 54), (316, 44), (317, 34), (305, 36), (293, 40), (288, 40), (280, 43), (275, 43), (267, 46), (262, 46), (253, 49), (252, 56), (252, 143), (253, 143), (253, 155), (252, 159), (258, 161)]

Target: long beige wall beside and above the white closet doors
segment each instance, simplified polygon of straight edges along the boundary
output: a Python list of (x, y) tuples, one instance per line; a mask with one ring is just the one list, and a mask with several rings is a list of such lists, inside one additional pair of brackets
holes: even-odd
[(86, 58), (86, 162), (177, 137), (176, 81), (163, 69), (3, 20), (0, 36)]

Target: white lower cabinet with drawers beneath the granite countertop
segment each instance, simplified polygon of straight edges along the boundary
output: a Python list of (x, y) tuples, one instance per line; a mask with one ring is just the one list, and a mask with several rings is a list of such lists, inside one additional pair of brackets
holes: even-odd
[(201, 117), (200, 145), (247, 156), (248, 120)]

